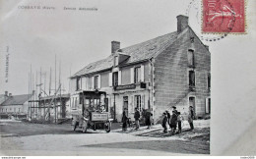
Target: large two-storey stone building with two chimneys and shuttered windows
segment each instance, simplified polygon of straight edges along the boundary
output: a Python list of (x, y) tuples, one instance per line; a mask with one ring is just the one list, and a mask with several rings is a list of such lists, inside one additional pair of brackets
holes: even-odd
[[(118, 122), (125, 108), (150, 109), (155, 122), (176, 106), (186, 114), (192, 105), (196, 117), (210, 113), (211, 54), (191, 27), (177, 16), (177, 30), (154, 39), (120, 48), (111, 42), (111, 54), (73, 75), (70, 92), (106, 91), (109, 110)], [(73, 100), (71, 98), (71, 100)]]

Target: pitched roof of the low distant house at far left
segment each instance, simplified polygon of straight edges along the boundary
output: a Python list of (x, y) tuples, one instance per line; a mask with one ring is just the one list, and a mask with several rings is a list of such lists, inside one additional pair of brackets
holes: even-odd
[(1, 104), (1, 106), (22, 105), (28, 101), (30, 97), (30, 94), (8, 96), (8, 98)]

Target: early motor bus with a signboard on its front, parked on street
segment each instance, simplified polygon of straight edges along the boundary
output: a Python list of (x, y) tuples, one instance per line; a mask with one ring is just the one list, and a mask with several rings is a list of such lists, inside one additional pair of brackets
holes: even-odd
[(108, 100), (104, 91), (87, 90), (71, 96), (72, 130), (88, 129), (111, 131), (112, 119), (109, 119)]

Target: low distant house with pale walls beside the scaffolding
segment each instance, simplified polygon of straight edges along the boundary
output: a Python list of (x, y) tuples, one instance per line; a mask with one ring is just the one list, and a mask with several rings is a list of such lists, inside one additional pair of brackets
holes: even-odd
[(0, 104), (0, 114), (2, 115), (28, 115), (30, 94), (4, 95), (3, 102)]

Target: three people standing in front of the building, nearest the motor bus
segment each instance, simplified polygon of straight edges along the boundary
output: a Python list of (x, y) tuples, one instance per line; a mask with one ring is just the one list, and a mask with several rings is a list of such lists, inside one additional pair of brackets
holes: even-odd
[[(126, 111), (127, 110), (124, 110), (123, 114), (122, 114), (122, 129), (123, 129), (123, 131), (127, 130), (128, 125), (131, 125), (131, 121), (127, 117)], [(143, 118), (145, 119), (144, 120), (145, 121), (145, 125), (148, 126), (147, 129), (150, 129), (151, 125), (152, 125), (153, 114), (151, 113), (150, 110), (147, 110), (147, 111), (144, 110), (142, 115), (143, 115)], [(140, 113), (138, 108), (135, 108), (135, 113), (134, 113), (135, 126), (136, 126), (135, 130), (139, 130), (140, 129), (140, 118), (141, 118), (141, 113)]]

